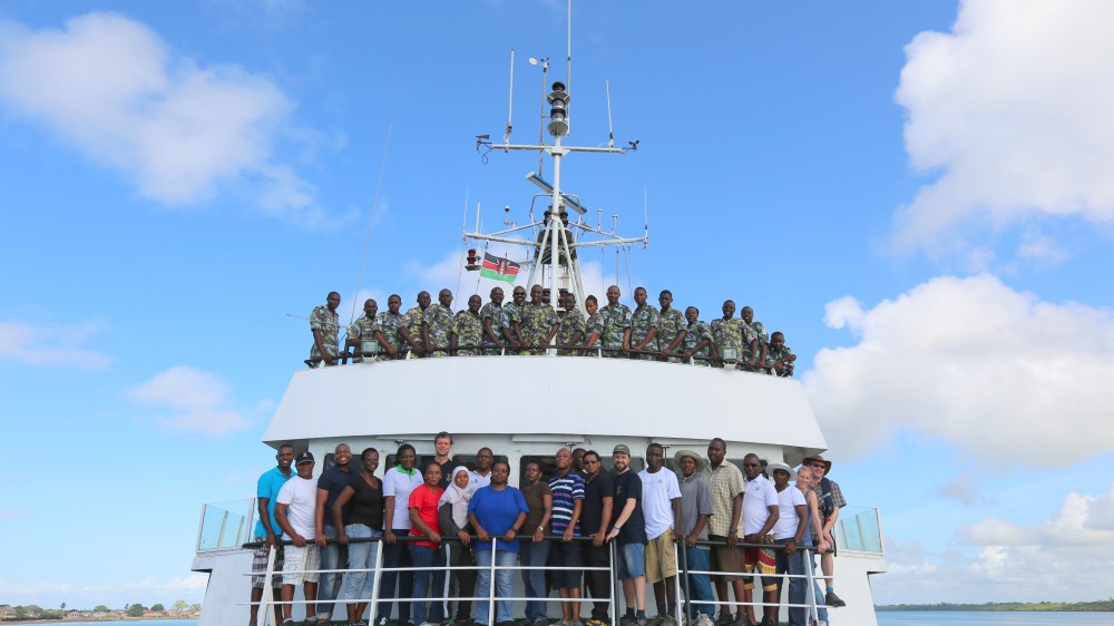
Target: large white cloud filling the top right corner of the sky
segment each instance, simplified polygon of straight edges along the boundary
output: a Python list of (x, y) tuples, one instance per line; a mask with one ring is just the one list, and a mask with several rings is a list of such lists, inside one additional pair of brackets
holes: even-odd
[(1040, 214), (1114, 221), (1112, 21), (1105, 0), (966, 0), (951, 32), (913, 38), (896, 97), (913, 166), (940, 177), (896, 215), (899, 246)]

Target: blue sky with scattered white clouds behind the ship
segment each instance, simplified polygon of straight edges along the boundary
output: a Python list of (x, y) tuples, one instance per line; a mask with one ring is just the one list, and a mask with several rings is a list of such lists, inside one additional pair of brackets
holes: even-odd
[[(536, 140), (526, 59), (568, 78), (567, 26), (557, 1), (0, 4), (0, 603), (202, 600), (201, 505), (273, 463), (297, 316), (486, 295), (462, 212), (524, 222), (537, 162), (475, 136), (501, 136), (515, 49)], [(563, 169), (619, 233), (648, 216), (624, 300), (785, 333), (832, 478), (881, 510), (879, 604), (1114, 588), (1112, 27), (1104, 0), (573, 7), (569, 141), (607, 140), (608, 89), (639, 141)]]

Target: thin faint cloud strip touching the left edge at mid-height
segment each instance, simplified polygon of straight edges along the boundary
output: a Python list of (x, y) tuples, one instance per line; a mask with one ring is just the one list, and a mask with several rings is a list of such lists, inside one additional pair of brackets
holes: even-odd
[(102, 370), (113, 358), (81, 346), (102, 326), (96, 320), (72, 324), (0, 322), (0, 363)]

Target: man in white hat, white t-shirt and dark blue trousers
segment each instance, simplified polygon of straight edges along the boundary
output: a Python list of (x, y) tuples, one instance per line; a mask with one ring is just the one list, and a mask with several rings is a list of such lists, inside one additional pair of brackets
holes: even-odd
[[(804, 499), (804, 493), (800, 489), (789, 485), (793, 479), (793, 470), (785, 463), (770, 463), (766, 466), (770, 476), (773, 477), (773, 487), (778, 490), (778, 524), (773, 526), (773, 542), (784, 546), (785, 549), (778, 550), (778, 575), (789, 574), (789, 604), (804, 604), (803, 578), (797, 578), (804, 574), (804, 555), (797, 551), (798, 544), (804, 537), (804, 530), (809, 526), (809, 505)], [(781, 595), (782, 581), (779, 579), (778, 593)], [(776, 607), (774, 607), (776, 610)], [(778, 623), (774, 614), (773, 624)], [(804, 626), (804, 607), (789, 608), (790, 626)]]

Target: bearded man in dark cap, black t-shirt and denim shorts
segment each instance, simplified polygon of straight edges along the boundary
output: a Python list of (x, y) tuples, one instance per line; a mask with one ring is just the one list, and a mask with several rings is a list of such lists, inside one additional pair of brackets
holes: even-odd
[[(615, 496), (607, 540), (618, 539), (618, 577), (623, 580), (626, 615), (619, 626), (646, 626), (646, 520), (642, 515), (642, 480), (631, 471), (631, 448), (612, 451)], [(637, 603), (637, 609), (635, 608)]]

